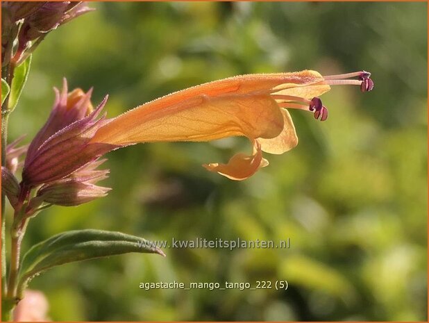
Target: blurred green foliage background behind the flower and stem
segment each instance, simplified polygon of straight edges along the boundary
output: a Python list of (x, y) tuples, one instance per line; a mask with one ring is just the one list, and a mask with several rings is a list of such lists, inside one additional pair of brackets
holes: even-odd
[[(113, 117), (237, 74), (373, 74), (333, 87), (328, 121), (292, 111), (300, 143), (244, 182), (206, 172), (249, 142), (140, 144), (108, 154), (108, 197), (53, 207), (24, 247), (71, 229), (151, 240), (283, 240), (290, 249), (166, 249), (37, 277), (52, 320), (427, 320), (427, 3), (90, 3), (33, 56), (10, 140), (47, 119), (53, 86), (110, 94)], [(289, 289), (151, 290), (146, 281), (287, 279)]]

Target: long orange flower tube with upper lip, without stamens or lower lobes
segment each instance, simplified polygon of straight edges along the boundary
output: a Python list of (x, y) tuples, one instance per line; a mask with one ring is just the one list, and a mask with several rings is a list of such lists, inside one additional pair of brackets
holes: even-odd
[[(269, 94), (323, 82), (314, 71), (250, 74), (205, 83), (145, 103), (112, 119), (91, 142), (208, 141), (232, 135), (275, 138), (284, 118)], [(328, 87), (329, 88), (329, 87)]]

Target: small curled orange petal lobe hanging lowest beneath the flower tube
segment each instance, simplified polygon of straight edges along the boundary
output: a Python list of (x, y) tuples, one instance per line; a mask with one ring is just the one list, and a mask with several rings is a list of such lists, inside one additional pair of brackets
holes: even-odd
[(203, 167), (210, 172), (217, 172), (224, 175), (228, 179), (243, 181), (255, 174), (258, 169), (267, 165), (268, 161), (262, 158), (260, 143), (258, 140), (253, 140), (253, 154), (251, 156), (239, 153), (230, 158), (228, 164), (210, 163), (203, 165)]

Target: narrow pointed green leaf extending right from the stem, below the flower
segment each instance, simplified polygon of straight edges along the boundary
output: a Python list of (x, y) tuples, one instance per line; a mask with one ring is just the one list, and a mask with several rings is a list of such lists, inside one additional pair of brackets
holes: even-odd
[(143, 238), (115, 231), (67, 231), (33, 246), (22, 259), (20, 290), (34, 276), (51, 267), (76, 261), (127, 254), (129, 252), (153, 253), (165, 256)]

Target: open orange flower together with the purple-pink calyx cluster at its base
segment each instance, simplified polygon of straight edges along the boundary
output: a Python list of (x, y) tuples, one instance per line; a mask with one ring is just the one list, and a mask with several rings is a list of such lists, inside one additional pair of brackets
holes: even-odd
[(61, 94), (56, 90), (47, 124), (28, 148), (21, 188), (25, 192), (40, 186), (33, 208), (43, 202), (78, 205), (109, 190), (95, 185), (107, 175), (95, 170), (100, 163), (96, 160), (108, 151), (139, 142), (201, 142), (244, 135), (252, 143), (251, 155), (203, 165), (241, 181), (268, 165), (262, 151), (283, 154), (298, 144), (287, 109), (308, 110), (324, 121), (328, 110), (319, 96), (330, 85), (372, 90), (369, 76), (356, 72), (323, 77), (314, 71), (235, 76), (169, 94), (112, 119), (98, 117), (107, 97), (92, 111), (91, 91), (67, 94), (64, 83)]

